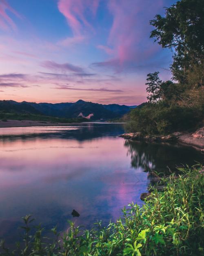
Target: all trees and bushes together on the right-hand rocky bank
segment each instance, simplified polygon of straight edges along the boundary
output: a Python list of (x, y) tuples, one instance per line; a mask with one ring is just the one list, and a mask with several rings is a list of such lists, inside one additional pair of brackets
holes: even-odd
[(204, 1), (180, 0), (165, 16), (150, 21), (151, 38), (169, 48), (172, 80), (159, 72), (147, 75), (148, 102), (129, 114), (129, 131), (169, 134), (203, 126), (204, 118)]

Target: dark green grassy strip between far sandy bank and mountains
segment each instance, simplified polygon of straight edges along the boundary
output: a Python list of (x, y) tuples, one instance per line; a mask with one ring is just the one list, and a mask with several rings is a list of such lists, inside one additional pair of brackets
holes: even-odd
[(57, 118), (52, 116), (34, 115), (30, 113), (0, 113), (0, 119), (4, 120), (32, 120), (32, 121), (46, 121), (46, 122), (87, 122), (85, 118)]

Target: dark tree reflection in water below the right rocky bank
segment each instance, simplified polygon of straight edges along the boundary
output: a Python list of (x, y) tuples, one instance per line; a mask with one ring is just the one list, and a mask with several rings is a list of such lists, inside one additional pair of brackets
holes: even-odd
[(203, 155), (192, 147), (178, 144), (145, 143), (125, 140), (124, 146), (131, 155), (132, 168), (167, 172), (176, 170), (183, 164), (193, 165), (195, 161), (203, 163)]

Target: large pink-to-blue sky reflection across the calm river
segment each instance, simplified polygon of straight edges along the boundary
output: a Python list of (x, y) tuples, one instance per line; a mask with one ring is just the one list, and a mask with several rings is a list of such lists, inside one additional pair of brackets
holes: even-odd
[[(0, 140), (4, 233), (28, 213), (62, 229), (67, 219), (86, 227), (100, 219), (104, 224), (115, 220), (124, 205), (140, 202), (147, 186), (146, 173), (131, 168), (126, 151), (124, 140), (113, 137)], [(80, 213), (78, 219), (72, 218), (73, 209)]]

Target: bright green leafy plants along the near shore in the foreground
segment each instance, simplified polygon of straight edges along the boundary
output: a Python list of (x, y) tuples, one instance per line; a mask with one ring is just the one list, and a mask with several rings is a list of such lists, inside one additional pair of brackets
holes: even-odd
[(204, 175), (202, 166), (180, 168), (163, 182), (164, 192), (154, 190), (144, 206), (124, 207), (123, 217), (108, 227), (83, 230), (70, 222), (66, 233), (37, 227), (31, 235), (31, 215), (23, 217), (24, 246), (14, 251), (1, 242), (1, 256), (201, 256), (204, 250)]

